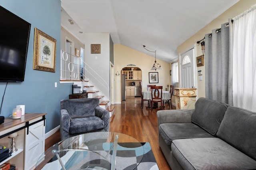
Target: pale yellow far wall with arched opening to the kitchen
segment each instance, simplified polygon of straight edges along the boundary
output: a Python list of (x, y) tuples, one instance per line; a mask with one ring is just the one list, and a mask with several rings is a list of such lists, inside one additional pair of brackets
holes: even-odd
[[(142, 90), (146, 90), (147, 85), (149, 84), (148, 73), (155, 72), (154, 70), (150, 70), (154, 64), (154, 61), (154, 57), (151, 57), (121, 44), (114, 44), (115, 73), (117, 71), (121, 73), (122, 68), (128, 67), (128, 64), (135, 64), (136, 67), (139, 67), (142, 70)], [(159, 63), (161, 67), (163, 67), (162, 70), (156, 71), (158, 72), (158, 83), (156, 83), (156, 85), (163, 86), (163, 90), (165, 90), (165, 88), (167, 88), (167, 83), (170, 84), (169, 63), (159, 60), (157, 56), (156, 62)], [(115, 103), (121, 103), (121, 75), (115, 75), (114, 85)], [(152, 85), (154, 84), (152, 83)]]

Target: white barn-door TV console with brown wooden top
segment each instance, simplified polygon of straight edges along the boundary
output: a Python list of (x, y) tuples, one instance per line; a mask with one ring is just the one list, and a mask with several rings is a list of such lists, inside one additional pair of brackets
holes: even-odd
[(44, 153), (46, 113), (26, 113), (21, 119), (5, 118), (0, 125), (0, 144), (11, 147), (12, 138), (8, 136), (18, 132), (15, 138), (18, 150), (12, 156), (0, 162), (14, 164), (19, 170), (33, 170), (39, 156)]

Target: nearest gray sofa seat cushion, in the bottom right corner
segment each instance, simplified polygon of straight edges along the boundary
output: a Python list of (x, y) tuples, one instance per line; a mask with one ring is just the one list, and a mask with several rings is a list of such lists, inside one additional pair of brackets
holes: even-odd
[(255, 169), (256, 161), (220, 138), (179, 139), (172, 154), (185, 170)]

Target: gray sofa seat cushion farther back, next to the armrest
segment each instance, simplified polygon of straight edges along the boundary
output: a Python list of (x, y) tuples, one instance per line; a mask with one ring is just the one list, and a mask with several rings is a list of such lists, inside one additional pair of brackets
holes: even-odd
[(170, 148), (175, 139), (214, 137), (193, 123), (164, 123), (159, 125), (159, 134)]

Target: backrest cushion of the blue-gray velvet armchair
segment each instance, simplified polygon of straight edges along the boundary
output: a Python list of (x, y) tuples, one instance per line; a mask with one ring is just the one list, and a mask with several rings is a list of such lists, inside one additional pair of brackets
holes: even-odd
[(95, 108), (99, 106), (97, 98), (64, 99), (60, 101), (60, 110), (66, 109), (70, 118), (95, 116)]

